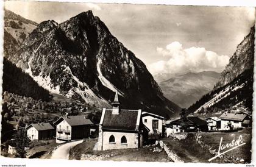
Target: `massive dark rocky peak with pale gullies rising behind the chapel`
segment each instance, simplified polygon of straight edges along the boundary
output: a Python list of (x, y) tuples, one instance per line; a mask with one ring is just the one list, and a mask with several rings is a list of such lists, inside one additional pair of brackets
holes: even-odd
[(146, 65), (126, 49), (91, 11), (38, 24), (12, 59), (52, 93), (110, 107), (118, 91), (122, 108), (166, 117), (180, 107), (163, 96)]

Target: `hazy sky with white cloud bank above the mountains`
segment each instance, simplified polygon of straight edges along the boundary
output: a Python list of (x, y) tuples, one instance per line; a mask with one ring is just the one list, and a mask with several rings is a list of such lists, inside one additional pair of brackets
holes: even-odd
[(5, 8), (37, 23), (92, 10), (152, 74), (220, 73), (255, 21), (253, 7), (5, 1)]

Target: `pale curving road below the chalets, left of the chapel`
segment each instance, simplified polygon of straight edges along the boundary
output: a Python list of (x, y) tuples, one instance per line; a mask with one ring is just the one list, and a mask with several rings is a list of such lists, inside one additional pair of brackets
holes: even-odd
[(66, 159), (69, 157), (69, 150), (76, 146), (77, 144), (82, 143), (83, 140), (71, 141), (69, 143), (62, 144), (62, 146), (57, 147), (52, 153), (51, 159)]

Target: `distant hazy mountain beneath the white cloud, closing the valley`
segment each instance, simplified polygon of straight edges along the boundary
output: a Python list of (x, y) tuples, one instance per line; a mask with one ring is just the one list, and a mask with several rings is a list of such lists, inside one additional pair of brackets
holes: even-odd
[(187, 73), (159, 83), (163, 94), (180, 107), (187, 108), (211, 91), (220, 74), (214, 71)]

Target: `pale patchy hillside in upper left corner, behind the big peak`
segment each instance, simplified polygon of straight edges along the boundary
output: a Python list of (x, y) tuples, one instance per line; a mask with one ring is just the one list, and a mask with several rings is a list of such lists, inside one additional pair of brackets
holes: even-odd
[(37, 23), (34, 21), (16, 15), (10, 10), (4, 10), (4, 56), (7, 59), (12, 59), (10, 55), (16, 52), (35, 27)]

